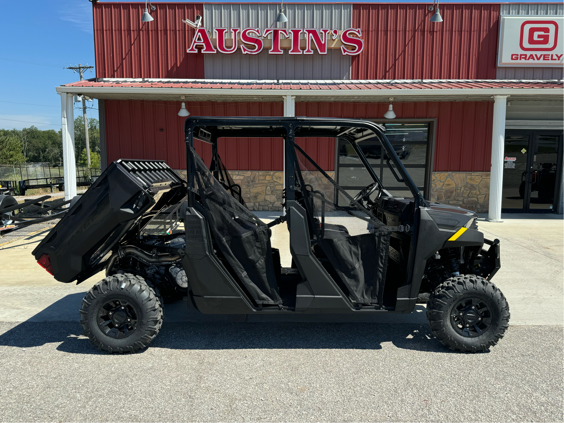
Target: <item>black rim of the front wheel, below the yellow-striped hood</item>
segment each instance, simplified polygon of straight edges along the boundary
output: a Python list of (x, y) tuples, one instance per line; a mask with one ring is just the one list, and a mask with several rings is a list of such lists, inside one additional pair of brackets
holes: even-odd
[(492, 311), (481, 298), (464, 298), (452, 307), (451, 324), (461, 336), (477, 337), (490, 328)]

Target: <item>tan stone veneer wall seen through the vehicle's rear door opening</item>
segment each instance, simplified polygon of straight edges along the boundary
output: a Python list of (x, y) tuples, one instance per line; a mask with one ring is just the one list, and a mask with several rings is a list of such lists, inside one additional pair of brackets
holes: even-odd
[[(186, 170), (175, 170), (186, 179)], [(230, 170), (231, 178), (241, 186), (249, 210), (282, 211), (284, 172), (276, 170)], [(327, 174), (333, 177), (334, 172)]]

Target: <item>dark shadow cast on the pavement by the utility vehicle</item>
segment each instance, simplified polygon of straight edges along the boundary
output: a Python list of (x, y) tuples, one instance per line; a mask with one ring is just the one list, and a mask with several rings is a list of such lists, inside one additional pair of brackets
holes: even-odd
[[(78, 307), (80, 307), (83, 296), (84, 293), (69, 294), (27, 321), (15, 326), (9, 322), (2, 323), (0, 332), (3, 333), (0, 334), (0, 346), (28, 348), (52, 343), (54, 348), (63, 352), (106, 354), (96, 349), (91, 345), (89, 339), (82, 335), (82, 327), (78, 324)], [(182, 306), (182, 304), (177, 304), (177, 306)], [(208, 321), (197, 323), (167, 321), (166, 312), (167, 309), (165, 309), (165, 322), (158, 336), (148, 349), (140, 353), (155, 348), (172, 350), (380, 350), (382, 343), (385, 342), (391, 342), (398, 348), (408, 350), (452, 352), (435, 340), (429, 326), (422, 323), (353, 321), (332, 323), (319, 321)], [(228, 316), (225, 317), (228, 318)]]

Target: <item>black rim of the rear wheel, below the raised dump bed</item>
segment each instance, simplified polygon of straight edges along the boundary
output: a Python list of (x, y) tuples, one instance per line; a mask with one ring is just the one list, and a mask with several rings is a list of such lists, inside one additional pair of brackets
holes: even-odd
[(129, 301), (113, 298), (98, 310), (98, 327), (109, 337), (120, 339), (130, 336), (139, 321), (137, 309)]

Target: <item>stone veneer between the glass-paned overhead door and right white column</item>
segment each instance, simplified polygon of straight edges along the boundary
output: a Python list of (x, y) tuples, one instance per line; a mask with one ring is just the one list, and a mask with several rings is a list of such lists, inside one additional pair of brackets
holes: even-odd
[(487, 213), (490, 172), (433, 172), (430, 200)]

